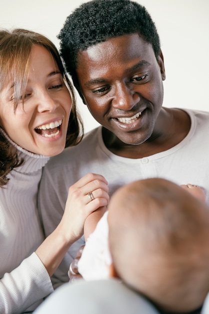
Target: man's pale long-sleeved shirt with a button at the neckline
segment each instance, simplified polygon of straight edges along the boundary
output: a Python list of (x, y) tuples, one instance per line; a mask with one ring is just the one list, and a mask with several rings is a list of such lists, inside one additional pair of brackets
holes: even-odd
[[(51, 158), (44, 167), (39, 190), (39, 209), (46, 235), (61, 219), (69, 186), (89, 172), (105, 177), (110, 196), (124, 184), (160, 177), (178, 185), (191, 183), (202, 186), (209, 203), (209, 112), (184, 110), (191, 119), (189, 133), (168, 150), (141, 159), (122, 158), (105, 147), (102, 128), (98, 127), (86, 134), (80, 144)], [(59, 285), (60, 280), (68, 281), (69, 264), (83, 243), (82, 237), (70, 247), (52, 279), (54, 286)]]

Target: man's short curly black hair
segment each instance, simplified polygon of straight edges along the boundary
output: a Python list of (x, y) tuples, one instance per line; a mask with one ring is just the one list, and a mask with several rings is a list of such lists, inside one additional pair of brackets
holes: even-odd
[(60, 54), (74, 81), (80, 51), (125, 34), (138, 34), (152, 45), (155, 57), (160, 52), (159, 36), (146, 9), (130, 0), (93, 0), (70, 14), (57, 36)]

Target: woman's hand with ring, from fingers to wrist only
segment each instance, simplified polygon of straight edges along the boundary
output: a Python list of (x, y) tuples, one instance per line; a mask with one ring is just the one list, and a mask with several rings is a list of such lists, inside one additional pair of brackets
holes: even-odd
[(109, 201), (107, 181), (103, 176), (87, 174), (68, 190), (64, 214), (59, 231), (66, 241), (75, 242), (83, 234), (86, 217)]

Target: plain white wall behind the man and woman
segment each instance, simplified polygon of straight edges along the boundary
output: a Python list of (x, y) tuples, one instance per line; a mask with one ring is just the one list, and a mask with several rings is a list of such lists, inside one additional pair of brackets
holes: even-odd
[[(164, 55), (165, 107), (209, 111), (209, 1), (136, 0), (151, 14)], [(86, 0), (1, 0), (0, 28), (26, 28), (56, 35), (71, 11)], [(81, 21), (82, 23), (82, 21)], [(85, 131), (97, 126), (77, 96)]]

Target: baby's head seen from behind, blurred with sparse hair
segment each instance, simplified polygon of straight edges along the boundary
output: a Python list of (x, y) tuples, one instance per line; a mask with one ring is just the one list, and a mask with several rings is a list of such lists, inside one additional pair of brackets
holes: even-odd
[(209, 209), (181, 187), (146, 179), (118, 189), (108, 206), (117, 275), (159, 309), (189, 312), (209, 290)]

